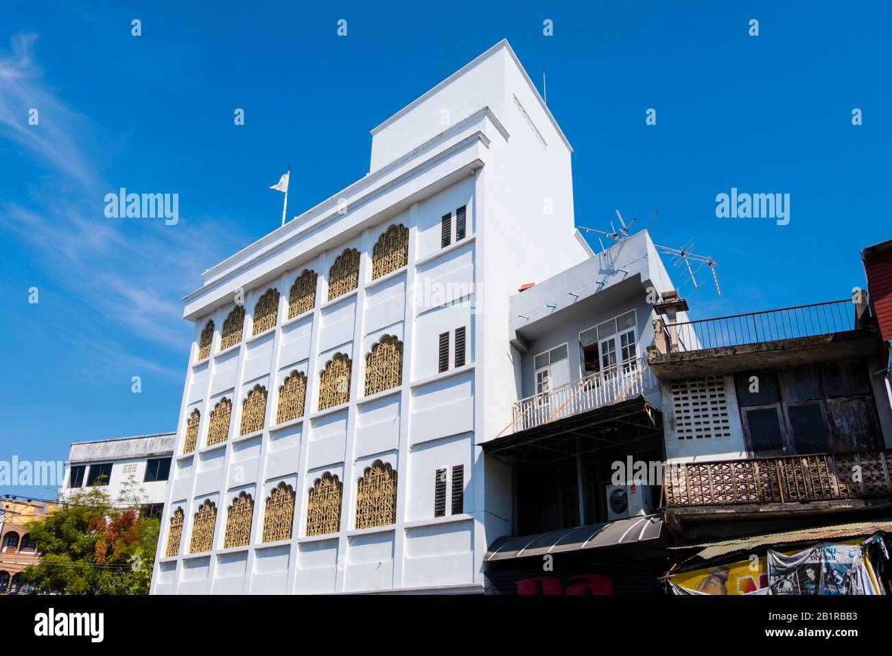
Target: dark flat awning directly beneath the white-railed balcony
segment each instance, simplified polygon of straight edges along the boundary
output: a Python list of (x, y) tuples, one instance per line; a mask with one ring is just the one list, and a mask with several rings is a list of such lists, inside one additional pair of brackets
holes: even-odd
[(638, 396), (478, 445), (485, 453), (523, 469), (583, 453), (615, 447), (627, 449), (638, 441), (662, 439), (660, 412), (646, 398)]

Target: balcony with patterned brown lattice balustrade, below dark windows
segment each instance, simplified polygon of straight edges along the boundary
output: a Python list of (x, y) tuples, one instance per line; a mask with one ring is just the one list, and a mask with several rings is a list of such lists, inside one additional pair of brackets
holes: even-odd
[[(797, 510), (808, 504), (888, 505), (892, 450), (813, 453), (733, 461), (682, 462), (664, 468), (668, 511)], [(830, 505), (828, 505), (830, 504)]]

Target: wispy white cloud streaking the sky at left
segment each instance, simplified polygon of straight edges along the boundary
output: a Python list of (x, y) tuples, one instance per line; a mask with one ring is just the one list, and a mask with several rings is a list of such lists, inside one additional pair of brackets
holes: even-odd
[[(190, 328), (181, 319), (181, 298), (209, 262), (237, 250), (237, 236), (227, 244), (211, 242), (202, 238), (202, 224), (211, 221), (182, 212), (176, 226), (106, 218), (104, 194), (117, 188), (103, 180), (101, 157), (91, 156), (95, 126), (45, 85), (37, 42), (34, 34), (18, 35), (9, 54), (0, 54), (0, 138), (45, 165), (46, 175), (28, 201), (0, 200), (0, 231), (37, 254), (54, 286), (89, 311), (183, 353)], [(39, 126), (28, 123), (31, 106), (40, 112)]]

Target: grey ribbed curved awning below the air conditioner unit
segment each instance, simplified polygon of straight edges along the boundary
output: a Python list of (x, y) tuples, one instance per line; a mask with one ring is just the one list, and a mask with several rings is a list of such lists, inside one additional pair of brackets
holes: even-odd
[(483, 561), (505, 561), (514, 558), (543, 556), (547, 553), (580, 552), (586, 549), (640, 544), (657, 541), (662, 546), (665, 536), (661, 515), (615, 519), (604, 524), (567, 528), (532, 536), (505, 536), (490, 545)]

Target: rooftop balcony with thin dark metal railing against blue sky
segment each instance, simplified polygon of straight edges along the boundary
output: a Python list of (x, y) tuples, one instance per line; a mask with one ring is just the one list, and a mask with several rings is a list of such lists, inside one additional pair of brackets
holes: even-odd
[(842, 300), (679, 323), (656, 320), (648, 365), (659, 378), (688, 378), (866, 357), (878, 339), (866, 310), (866, 304)]

